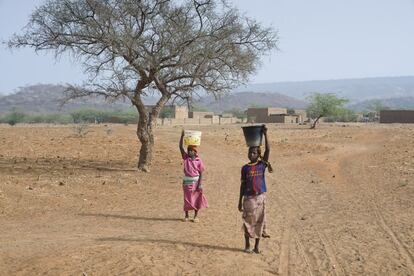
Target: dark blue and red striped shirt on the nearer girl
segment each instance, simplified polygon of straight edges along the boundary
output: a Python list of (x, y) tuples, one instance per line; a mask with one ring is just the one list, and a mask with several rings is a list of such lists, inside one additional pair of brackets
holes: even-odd
[(267, 165), (259, 161), (246, 164), (241, 169), (241, 180), (244, 181), (243, 196), (259, 195), (266, 192), (265, 170)]

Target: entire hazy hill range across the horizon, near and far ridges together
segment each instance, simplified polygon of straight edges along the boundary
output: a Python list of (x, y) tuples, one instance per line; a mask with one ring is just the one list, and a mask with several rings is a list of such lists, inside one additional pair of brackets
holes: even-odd
[[(38, 84), (22, 87), (15, 94), (0, 96), (0, 113), (13, 108), (24, 112), (55, 113), (79, 108), (125, 109), (129, 101), (106, 102), (102, 97), (73, 100), (60, 107), (65, 87), (53, 84)], [(350, 100), (348, 107), (356, 111), (366, 110), (372, 100), (380, 100), (384, 106), (394, 109), (413, 108), (414, 77), (389, 77), (348, 80), (326, 80), (306, 82), (280, 82), (253, 84), (239, 87), (222, 96), (218, 101), (207, 96), (195, 105), (215, 112), (231, 109), (245, 110), (248, 107), (305, 108), (306, 96), (312, 92), (335, 93)], [(147, 97), (146, 104), (154, 104), (156, 98)]]

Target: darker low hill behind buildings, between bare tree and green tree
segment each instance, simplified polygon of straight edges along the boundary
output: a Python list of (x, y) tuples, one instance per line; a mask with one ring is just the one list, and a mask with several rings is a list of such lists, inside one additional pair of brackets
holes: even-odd
[(204, 97), (196, 101), (195, 105), (214, 112), (223, 112), (268, 106), (302, 109), (306, 107), (306, 102), (279, 93), (240, 92), (225, 95), (218, 101), (212, 96)]

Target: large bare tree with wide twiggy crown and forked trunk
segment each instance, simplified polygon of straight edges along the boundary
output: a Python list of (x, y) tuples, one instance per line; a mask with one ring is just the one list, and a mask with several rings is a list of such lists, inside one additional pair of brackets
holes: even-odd
[[(127, 98), (139, 113), (138, 168), (148, 171), (153, 128), (162, 107), (207, 91), (218, 96), (244, 83), (277, 33), (225, 0), (49, 0), (9, 47), (71, 53), (89, 73), (71, 97)], [(147, 109), (143, 96), (158, 95)]]

